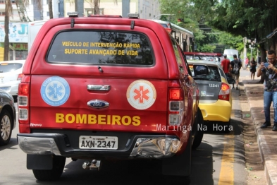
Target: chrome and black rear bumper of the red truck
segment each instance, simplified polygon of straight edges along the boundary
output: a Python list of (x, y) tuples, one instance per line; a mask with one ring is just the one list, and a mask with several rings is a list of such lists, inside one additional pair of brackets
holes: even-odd
[(73, 158), (160, 159), (172, 157), (180, 149), (180, 140), (176, 136), (136, 135), (130, 138), (126, 140), (125, 147), (119, 147), (118, 150), (87, 150), (71, 145), (70, 139), (63, 133), (18, 133), (18, 145), (27, 154), (54, 154)]

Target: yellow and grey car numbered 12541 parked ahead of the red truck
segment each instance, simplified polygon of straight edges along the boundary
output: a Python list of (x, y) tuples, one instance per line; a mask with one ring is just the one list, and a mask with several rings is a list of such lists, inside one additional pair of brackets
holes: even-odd
[[(220, 121), (223, 126), (227, 126), (226, 129), (229, 129), (230, 114), (232, 112), (232, 90), (230, 84), (235, 80), (226, 77), (221, 65), (214, 61), (187, 60), (187, 63), (190, 66), (193, 78), (199, 85), (199, 107), (205, 124)], [(209, 68), (207, 75), (194, 76), (194, 66), (199, 64)]]

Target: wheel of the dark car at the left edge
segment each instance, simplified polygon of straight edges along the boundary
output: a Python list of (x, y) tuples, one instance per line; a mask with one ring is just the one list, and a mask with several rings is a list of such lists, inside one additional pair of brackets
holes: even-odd
[(13, 128), (13, 119), (7, 110), (3, 110), (0, 114), (0, 145), (7, 145), (11, 139), (11, 131)]

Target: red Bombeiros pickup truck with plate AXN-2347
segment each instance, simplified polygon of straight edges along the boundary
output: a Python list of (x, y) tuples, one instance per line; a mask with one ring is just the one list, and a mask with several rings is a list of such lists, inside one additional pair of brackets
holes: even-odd
[[(194, 66), (195, 76), (208, 73)], [(18, 145), (35, 178), (61, 177), (66, 158), (153, 159), (190, 177), (202, 141), (199, 90), (176, 41), (159, 23), (130, 14), (48, 20), (18, 88)]]

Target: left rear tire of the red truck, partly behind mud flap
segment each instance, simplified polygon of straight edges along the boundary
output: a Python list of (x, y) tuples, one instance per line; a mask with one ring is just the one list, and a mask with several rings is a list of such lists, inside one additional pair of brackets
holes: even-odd
[(53, 169), (32, 169), (32, 173), (39, 181), (56, 180), (63, 174), (63, 168), (66, 164), (66, 157), (56, 156), (53, 157)]

